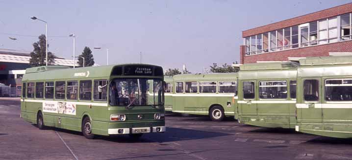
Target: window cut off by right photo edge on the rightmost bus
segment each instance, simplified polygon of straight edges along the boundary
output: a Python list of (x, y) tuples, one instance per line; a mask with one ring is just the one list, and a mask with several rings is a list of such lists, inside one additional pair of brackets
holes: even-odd
[(325, 81), (326, 101), (352, 101), (352, 79), (329, 79)]

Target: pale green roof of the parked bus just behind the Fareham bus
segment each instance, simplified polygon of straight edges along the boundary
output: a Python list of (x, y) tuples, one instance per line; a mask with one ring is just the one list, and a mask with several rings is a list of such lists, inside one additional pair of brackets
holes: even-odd
[(217, 81), (217, 80), (237, 80), (238, 73), (196, 73), (177, 74), (173, 78), (175, 81)]

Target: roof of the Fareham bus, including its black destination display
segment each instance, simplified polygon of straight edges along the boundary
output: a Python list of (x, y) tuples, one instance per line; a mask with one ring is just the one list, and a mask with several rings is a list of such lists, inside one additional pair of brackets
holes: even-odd
[[(139, 68), (138, 68), (139, 67)], [(26, 69), (26, 73), (23, 76), (23, 81), (30, 80), (50, 80), (50, 79), (78, 79), (78, 78), (99, 78), (99, 77), (110, 77), (111, 75), (131, 75), (133, 69), (142, 69), (143, 73), (145, 70), (151, 69), (153, 76), (158, 72), (158, 75), (163, 74), (162, 68), (159, 66), (148, 65), (148, 64), (121, 64), (121, 65), (108, 65), (108, 66), (94, 66), (84, 68), (67, 68), (64, 66), (43, 66)], [(127, 74), (127, 69), (129, 72)], [(145, 70), (143, 70), (145, 69)], [(155, 72), (154, 72), (155, 71)], [(142, 75), (138, 74), (138, 75)], [(146, 74), (143, 74), (147, 76)], [(149, 73), (148, 73), (149, 75)]]

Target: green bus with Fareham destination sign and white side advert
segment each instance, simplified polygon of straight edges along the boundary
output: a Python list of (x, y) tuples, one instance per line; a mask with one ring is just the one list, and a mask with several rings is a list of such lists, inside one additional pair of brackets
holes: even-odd
[(26, 69), (21, 117), (94, 135), (165, 132), (163, 69), (146, 64)]

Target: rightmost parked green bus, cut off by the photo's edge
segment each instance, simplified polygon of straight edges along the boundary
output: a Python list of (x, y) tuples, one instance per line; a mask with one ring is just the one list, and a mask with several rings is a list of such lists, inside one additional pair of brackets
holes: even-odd
[(300, 60), (296, 131), (352, 137), (352, 56)]

